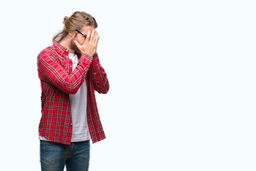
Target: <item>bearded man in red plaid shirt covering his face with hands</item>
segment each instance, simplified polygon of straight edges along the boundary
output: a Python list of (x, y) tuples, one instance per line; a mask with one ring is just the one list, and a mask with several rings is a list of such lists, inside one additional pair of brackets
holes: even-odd
[(96, 19), (76, 11), (64, 17), (63, 31), (39, 53), (41, 81), (39, 123), (41, 170), (88, 170), (90, 140), (105, 134), (95, 90), (108, 93), (106, 72), (98, 59)]

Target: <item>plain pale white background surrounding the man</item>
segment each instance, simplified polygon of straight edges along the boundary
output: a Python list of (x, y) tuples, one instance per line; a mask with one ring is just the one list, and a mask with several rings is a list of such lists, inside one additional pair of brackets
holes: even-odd
[(255, 1), (3, 1), (0, 170), (40, 170), (36, 57), (86, 11), (110, 90), (91, 171), (256, 170)]

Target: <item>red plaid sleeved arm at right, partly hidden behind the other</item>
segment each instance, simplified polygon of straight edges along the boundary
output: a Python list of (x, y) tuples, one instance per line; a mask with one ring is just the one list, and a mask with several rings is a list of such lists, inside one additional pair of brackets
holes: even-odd
[(109, 82), (107, 74), (98, 59), (98, 54), (93, 56), (91, 64), (91, 78), (93, 79), (93, 86), (98, 93), (106, 94), (109, 90)]

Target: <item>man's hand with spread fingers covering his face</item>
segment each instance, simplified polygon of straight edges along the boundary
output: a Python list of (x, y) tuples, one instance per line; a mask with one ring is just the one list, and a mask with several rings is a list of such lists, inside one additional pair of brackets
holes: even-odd
[(99, 39), (100, 37), (98, 36), (97, 31), (93, 29), (92, 33), (91, 31), (88, 31), (86, 41), (83, 43), (83, 45), (79, 44), (77, 41), (74, 42), (76, 43), (76, 46), (79, 51), (81, 51), (81, 53), (86, 53), (89, 56), (94, 56), (97, 51)]

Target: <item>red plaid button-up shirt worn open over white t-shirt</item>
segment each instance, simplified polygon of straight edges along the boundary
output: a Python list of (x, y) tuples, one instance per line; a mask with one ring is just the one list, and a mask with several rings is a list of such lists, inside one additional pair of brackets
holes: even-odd
[(109, 83), (98, 54), (78, 56), (78, 64), (72, 72), (68, 50), (57, 41), (39, 53), (37, 67), (41, 81), (41, 120), (39, 135), (53, 142), (71, 144), (72, 120), (69, 95), (76, 93), (86, 81), (87, 121), (94, 142), (105, 139), (98, 115), (94, 90), (108, 93)]

